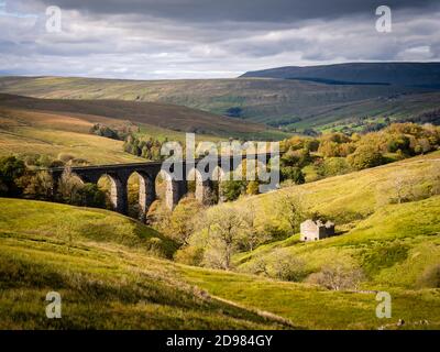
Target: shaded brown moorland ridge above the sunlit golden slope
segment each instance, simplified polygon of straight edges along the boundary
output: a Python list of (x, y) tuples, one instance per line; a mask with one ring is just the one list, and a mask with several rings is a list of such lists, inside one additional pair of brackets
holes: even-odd
[[(105, 117), (150, 124), (173, 131), (195, 132), (223, 138), (257, 136), (258, 133), (264, 133), (268, 130), (265, 125), (251, 121), (237, 121), (232, 118), (182, 106), (145, 101), (35, 99), (0, 94), (0, 107), (51, 111), (63, 114), (86, 114), (91, 122), (97, 120), (94, 117)], [(278, 134), (275, 130), (273, 132)]]

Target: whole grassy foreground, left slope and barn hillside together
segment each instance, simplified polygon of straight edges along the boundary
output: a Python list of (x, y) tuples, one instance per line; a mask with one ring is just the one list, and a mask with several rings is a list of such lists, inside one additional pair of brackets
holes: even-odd
[[(440, 198), (384, 204), (380, 197), (392, 193), (396, 177), (432, 189), (439, 160), (435, 152), (219, 206), (254, 204), (258, 221), (271, 223), (278, 197), (302, 193), (345, 231), (306, 244), (293, 235), (240, 253), (234, 261), (243, 273), (167, 261), (172, 241), (113, 212), (0, 199), (0, 328), (439, 329), (440, 290), (419, 278), (439, 263)], [(309, 271), (337, 260), (359, 263), (367, 279), (360, 290), (336, 292), (245, 273), (279, 250)], [(62, 294), (63, 319), (44, 318), (50, 290)], [(392, 295), (391, 319), (375, 316), (376, 290)]]

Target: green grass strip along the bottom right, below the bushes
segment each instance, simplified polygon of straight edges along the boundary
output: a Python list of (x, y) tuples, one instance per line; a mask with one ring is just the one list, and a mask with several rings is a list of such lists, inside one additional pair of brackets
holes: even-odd
[[(252, 275), (183, 268), (186, 279), (210, 294), (246, 307), (271, 311), (299, 329), (440, 329), (439, 289), (403, 290), (392, 295), (392, 318), (375, 315), (375, 293), (330, 292), (307, 284), (264, 279)], [(427, 320), (428, 323), (421, 323)]]

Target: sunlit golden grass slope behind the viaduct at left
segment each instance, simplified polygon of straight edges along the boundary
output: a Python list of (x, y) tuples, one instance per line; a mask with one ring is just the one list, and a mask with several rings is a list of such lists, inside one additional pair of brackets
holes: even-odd
[[(125, 153), (122, 141), (90, 134), (89, 130), (95, 123), (118, 129), (128, 122), (96, 114), (26, 110), (4, 107), (0, 103), (0, 156), (40, 154), (57, 158), (62, 154), (68, 154), (75, 158), (85, 160), (89, 164), (144, 161)], [(136, 127), (139, 132), (135, 134), (139, 138), (185, 141), (184, 132), (146, 123), (136, 123)], [(264, 134), (265, 132), (262, 132), (258, 135)], [(224, 139), (218, 135), (197, 134), (196, 140), (217, 142)]]

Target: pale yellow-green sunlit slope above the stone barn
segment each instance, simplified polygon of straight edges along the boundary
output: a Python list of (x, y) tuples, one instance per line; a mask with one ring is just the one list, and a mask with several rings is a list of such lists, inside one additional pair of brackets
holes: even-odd
[[(283, 195), (301, 195), (310, 211), (338, 220), (343, 230), (382, 210), (388, 197), (396, 194), (394, 182), (402, 179), (414, 185), (417, 195), (429, 193), (439, 183), (440, 152), (407, 158), (380, 167), (329, 177), (300, 186), (290, 186), (238, 200), (238, 206), (254, 204), (261, 223), (276, 221), (273, 211)], [(279, 223), (283, 227), (283, 223)]]

